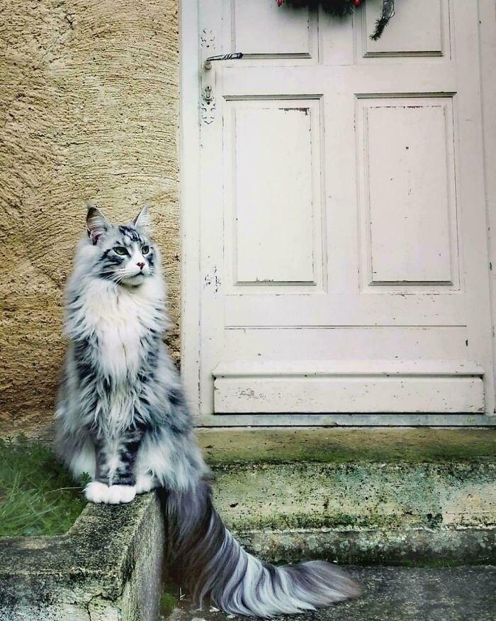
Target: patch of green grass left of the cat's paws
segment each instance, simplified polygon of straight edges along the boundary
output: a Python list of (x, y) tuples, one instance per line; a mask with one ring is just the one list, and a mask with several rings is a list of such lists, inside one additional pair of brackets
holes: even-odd
[(0, 537), (67, 532), (86, 501), (50, 449), (0, 439)]

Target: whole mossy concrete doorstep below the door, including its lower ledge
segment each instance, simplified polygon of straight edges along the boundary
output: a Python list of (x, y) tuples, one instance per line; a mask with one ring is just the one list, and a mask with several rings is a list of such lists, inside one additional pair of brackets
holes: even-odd
[(215, 504), (274, 562), (493, 564), (495, 429), (209, 429)]

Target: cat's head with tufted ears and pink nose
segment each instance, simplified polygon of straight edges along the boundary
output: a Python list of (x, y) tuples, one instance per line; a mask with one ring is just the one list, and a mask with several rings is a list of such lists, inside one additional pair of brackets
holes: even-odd
[(156, 272), (158, 249), (150, 238), (147, 207), (129, 224), (113, 224), (101, 209), (90, 205), (86, 215), (86, 257), (92, 273), (125, 287), (138, 287)]

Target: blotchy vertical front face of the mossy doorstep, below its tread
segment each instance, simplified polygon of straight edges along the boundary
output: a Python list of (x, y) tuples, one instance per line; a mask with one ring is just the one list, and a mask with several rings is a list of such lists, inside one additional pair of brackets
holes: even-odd
[(496, 463), (222, 463), (215, 503), (235, 529), (496, 527)]

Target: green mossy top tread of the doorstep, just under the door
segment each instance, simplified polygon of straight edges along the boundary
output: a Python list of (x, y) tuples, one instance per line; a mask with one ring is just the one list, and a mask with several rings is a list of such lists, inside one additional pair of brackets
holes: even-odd
[[(496, 419), (495, 419), (496, 420)], [(212, 466), (228, 463), (439, 463), (495, 460), (496, 429), (201, 429)]]

